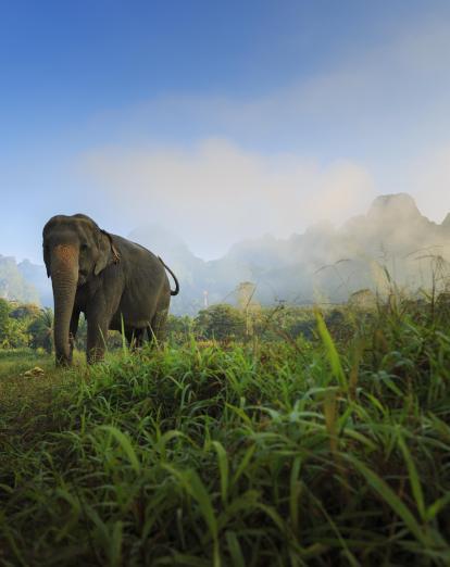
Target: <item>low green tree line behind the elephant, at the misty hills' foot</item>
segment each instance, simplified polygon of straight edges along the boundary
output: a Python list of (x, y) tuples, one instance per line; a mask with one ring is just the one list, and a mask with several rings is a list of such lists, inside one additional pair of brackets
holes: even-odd
[[(349, 331), (343, 306), (325, 308), (327, 326), (335, 336)], [(198, 341), (215, 340), (222, 343), (245, 342), (258, 337), (262, 340), (296, 340), (299, 336), (312, 339), (315, 333), (315, 314), (312, 306), (292, 306), (279, 303), (272, 307), (251, 304), (234, 306), (226, 303), (201, 310), (195, 317), (170, 315), (167, 339), (180, 343), (193, 337)], [(75, 346), (84, 350), (87, 325), (80, 317)], [(121, 348), (118, 332), (109, 333), (108, 348)], [(0, 299), (0, 349), (53, 350), (53, 312), (33, 303), (17, 303)]]

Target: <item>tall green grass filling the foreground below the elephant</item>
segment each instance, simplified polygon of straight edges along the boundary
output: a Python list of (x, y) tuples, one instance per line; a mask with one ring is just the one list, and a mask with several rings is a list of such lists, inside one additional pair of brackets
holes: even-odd
[(1, 376), (0, 564), (448, 565), (448, 313), (345, 325)]

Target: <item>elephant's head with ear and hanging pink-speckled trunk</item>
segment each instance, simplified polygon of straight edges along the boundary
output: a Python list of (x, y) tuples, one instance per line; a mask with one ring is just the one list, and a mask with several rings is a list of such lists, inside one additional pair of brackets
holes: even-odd
[(57, 363), (68, 364), (70, 324), (78, 287), (118, 260), (111, 236), (86, 215), (50, 218), (42, 232), (43, 261), (54, 298)]

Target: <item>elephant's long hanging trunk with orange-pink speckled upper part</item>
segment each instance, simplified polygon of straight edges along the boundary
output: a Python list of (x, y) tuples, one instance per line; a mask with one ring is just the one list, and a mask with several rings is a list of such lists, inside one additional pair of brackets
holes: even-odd
[(60, 244), (51, 255), (51, 282), (54, 299), (54, 350), (57, 365), (71, 364), (70, 325), (78, 281), (78, 250)]

